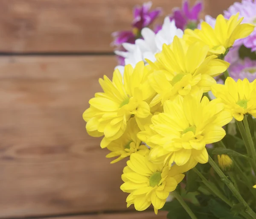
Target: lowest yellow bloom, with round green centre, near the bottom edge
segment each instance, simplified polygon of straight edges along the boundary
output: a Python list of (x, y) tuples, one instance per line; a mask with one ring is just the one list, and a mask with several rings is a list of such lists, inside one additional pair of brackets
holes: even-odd
[(186, 166), (173, 165), (170, 169), (162, 164), (153, 164), (147, 157), (132, 154), (123, 170), (121, 190), (131, 193), (126, 199), (127, 207), (134, 204), (136, 210), (145, 210), (151, 204), (154, 211), (163, 207), (169, 193), (174, 191), (183, 178), (184, 172), (195, 167), (195, 161)]

